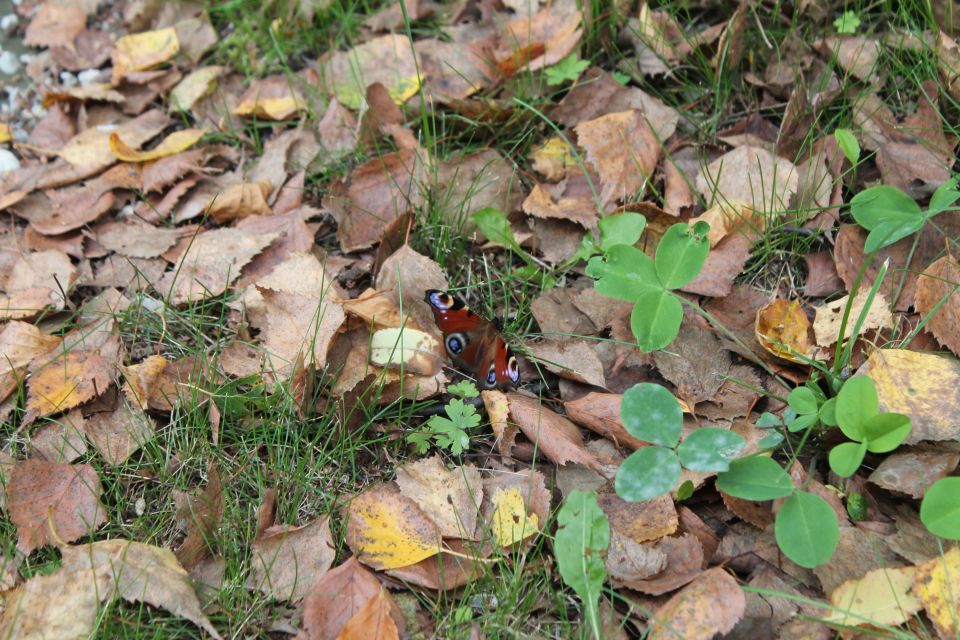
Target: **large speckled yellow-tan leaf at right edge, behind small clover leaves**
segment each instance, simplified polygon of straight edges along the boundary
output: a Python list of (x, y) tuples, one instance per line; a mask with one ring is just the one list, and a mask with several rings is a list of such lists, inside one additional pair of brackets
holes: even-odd
[(877, 387), (881, 411), (910, 417), (904, 441), (956, 440), (960, 423), (960, 362), (956, 358), (906, 349), (877, 349), (861, 367)]

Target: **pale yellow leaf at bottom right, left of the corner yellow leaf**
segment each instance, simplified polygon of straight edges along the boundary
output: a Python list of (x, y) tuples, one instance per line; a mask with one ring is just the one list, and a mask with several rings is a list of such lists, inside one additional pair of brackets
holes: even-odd
[(827, 617), (844, 625), (899, 625), (920, 610), (920, 601), (910, 591), (914, 567), (874, 569), (859, 580), (847, 580), (830, 594), (838, 610)]

